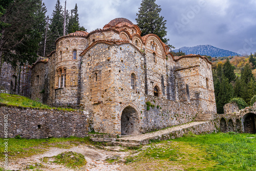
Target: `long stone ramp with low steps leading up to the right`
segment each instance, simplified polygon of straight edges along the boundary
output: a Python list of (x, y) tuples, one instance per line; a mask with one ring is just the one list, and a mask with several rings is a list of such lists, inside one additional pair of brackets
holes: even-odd
[[(192, 132), (194, 134), (211, 133), (215, 131), (215, 126), (209, 121), (190, 122), (183, 125), (173, 126), (153, 133), (140, 135), (122, 136), (121, 138), (92, 137), (91, 140), (97, 142), (108, 142), (106, 145), (121, 145), (134, 147), (148, 144), (154, 140), (167, 140), (182, 137), (184, 134)], [(99, 134), (96, 134), (99, 135)], [(89, 135), (90, 136), (90, 135)], [(106, 135), (109, 136), (109, 135)], [(101, 140), (101, 141), (100, 141)]]

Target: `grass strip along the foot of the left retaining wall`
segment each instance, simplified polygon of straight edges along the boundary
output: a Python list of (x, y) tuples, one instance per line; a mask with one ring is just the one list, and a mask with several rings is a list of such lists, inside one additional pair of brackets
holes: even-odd
[[(38, 153), (44, 153), (50, 147), (70, 148), (80, 143), (91, 143), (89, 138), (47, 138), (47, 139), (15, 139), (9, 138), (8, 156), (10, 158), (29, 157)], [(0, 152), (4, 152), (4, 139), (0, 139)], [(4, 153), (0, 153), (3, 157)]]

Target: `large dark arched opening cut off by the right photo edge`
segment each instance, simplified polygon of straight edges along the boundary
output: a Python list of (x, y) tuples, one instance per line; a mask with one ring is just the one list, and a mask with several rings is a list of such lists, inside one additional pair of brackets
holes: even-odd
[(256, 127), (255, 127), (256, 115), (253, 113), (248, 113), (244, 115), (243, 120), (244, 120), (243, 121), (244, 133), (256, 134)]

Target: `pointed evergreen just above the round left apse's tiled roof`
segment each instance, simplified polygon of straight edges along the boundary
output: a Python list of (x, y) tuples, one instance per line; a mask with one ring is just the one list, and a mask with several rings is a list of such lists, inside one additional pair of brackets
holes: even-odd
[(68, 30), (68, 34), (76, 32), (76, 31), (86, 31), (86, 29), (84, 29), (84, 27), (80, 27), (77, 4), (75, 5), (75, 8), (73, 10), (71, 10), (71, 16), (69, 19), (67, 30)]

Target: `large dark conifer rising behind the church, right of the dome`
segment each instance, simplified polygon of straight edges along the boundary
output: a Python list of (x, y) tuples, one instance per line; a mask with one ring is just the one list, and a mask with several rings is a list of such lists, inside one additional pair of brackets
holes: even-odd
[[(141, 29), (141, 36), (146, 34), (156, 34), (166, 45), (168, 44), (166, 31), (166, 20), (160, 16), (161, 8), (156, 4), (156, 0), (142, 0), (139, 13), (136, 15), (137, 25)], [(174, 48), (172, 45), (168, 45)]]

